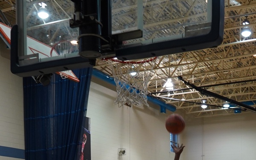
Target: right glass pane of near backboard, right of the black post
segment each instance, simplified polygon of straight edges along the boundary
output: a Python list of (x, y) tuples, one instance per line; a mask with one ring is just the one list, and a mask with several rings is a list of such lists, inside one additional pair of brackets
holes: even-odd
[(114, 0), (112, 33), (143, 30), (143, 38), (123, 44), (205, 35), (211, 29), (211, 3), (212, 0)]

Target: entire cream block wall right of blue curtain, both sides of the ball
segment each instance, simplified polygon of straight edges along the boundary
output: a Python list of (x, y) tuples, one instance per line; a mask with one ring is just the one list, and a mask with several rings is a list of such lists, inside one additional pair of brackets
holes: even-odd
[[(91, 118), (92, 160), (173, 160), (167, 114), (159, 108), (114, 105), (116, 92), (91, 83), (87, 116)], [(180, 160), (255, 160), (256, 113), (195, 118), (183, 114), (186, 128)], [(127, 154), (118, 156), (117, 149)]]

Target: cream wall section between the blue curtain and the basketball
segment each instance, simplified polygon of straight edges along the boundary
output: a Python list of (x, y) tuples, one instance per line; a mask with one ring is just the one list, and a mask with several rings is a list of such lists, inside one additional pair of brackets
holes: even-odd
[[(92, 160), (172, 160), (165, 128), (168, 114), (152, 107), (119, 108), (115, 100), (115, 91), (91, 82), (87, 117)], [(127, 154), (118, 156), (118, 148)]]

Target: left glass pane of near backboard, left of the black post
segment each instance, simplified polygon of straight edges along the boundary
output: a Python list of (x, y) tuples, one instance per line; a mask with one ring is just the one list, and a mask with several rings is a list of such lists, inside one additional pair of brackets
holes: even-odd
[[(26, 2), (27, 54), (38, 53), (43, 58), (61, 58), (69, 54), (78, 55), (78, 28), (70, 28), (74, 5), (70, 0)], [(40, 17), (45, 12), (49, 17)], [(60, 57), (58, 57), (60, 56)]]

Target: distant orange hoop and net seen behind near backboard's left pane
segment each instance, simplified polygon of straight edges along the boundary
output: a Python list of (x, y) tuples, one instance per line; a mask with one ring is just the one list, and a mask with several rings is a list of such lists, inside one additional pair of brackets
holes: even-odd
[[(67, 54), (72, 53), (73, 51), (73, 44), (70, 41), (64, 40), (64, 41), (59, 41), (58, 43), (54, 44), (51, 49), (51, 57), (54, 56), (66, 56)], [(65, 70), (65, 71), (60, 71), (56, 72), (58, 73), (62, 79), (68, 78), (68, 76), (71, 74), (71, 70)]]

